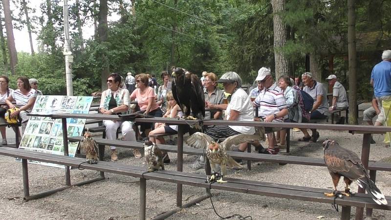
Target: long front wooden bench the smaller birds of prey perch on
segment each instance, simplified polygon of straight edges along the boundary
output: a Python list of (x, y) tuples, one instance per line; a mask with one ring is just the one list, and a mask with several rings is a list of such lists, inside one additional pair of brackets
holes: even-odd
[[(31, 152), (22, 149), (13, 149), (7, 147), (1, 147), (0, 154), (6, 156), (18, 157), (22, 159), (23, 194), (25, 200), (42, 198), (44, 196), (51, 195), (53, 193), (62, 191), (64, 189), (68, 189), (72, 186), (80, 186), (80, 185), (93, 182), (91, 180), (87, 180), (82, 183), (76, 183), (76, 184), (69, 183), (69, 185), (67, 184), (65, 187), (61, 187), (55, 190), (50, 190), (31, 196), (29, 192), (28, 164), (27, 164), (27, 160), (29, 159), (42, 161), (42, 162), (55, 163), (59, 165), (69, 166), (69, 167), (80, 167), (88, 170), (99, 171), (101, 172), (101, 174), (103, 172), (108, 172), (113, 174), (140, 178), (140, 210), (139, 210), (140, 220), (146, 219), (146, 192), (147, 192), (146, 180), (147, 179), (172, 182), (177, 184), (185, 184), (185, 185), (202, 187), (207, 189), (206, 195), (198, 197), (186, 204), (181, 205), (178, 208), (174, 208), (171, 211), (168, 211), (160, 216), (157, 216), (156, 219), (167, 218), (170, 215), (174, 214), (175, 212), (179, 211), (181, 208), (189, 207), (197, 202), (202, 201), (205, 198), (211, 197), (212, 195), (210, 194), (210, 191), (208, 191), (208, 189), (217, 189), (217, 190), (224, 190), (224, 191), (231, 191), (231, 192), (260, 195), (260, 196), (279, 197), (279, 198), (288, 198), (288, 199), (342, 205), (341, 219), (343, 220), (350, 219), (351, 206), (391, 210), (391, 205), (377, 205), (368, 194), (362, 194), (362, 193), (355, 194), (355, 196), (353, 197), (334, 199), (332, 197), (324, 196), (325, 192), (330, 191), (329, 189), (318, 189), (318, 188), (311, 188), (311, 187), (276, 184), (276, 183), (243, 180), (243, 179), (235, 179), (235, 178), (225, 178), (225, 180), (227, 180), (228, 182), (224, 184), (216, 184), (216, 183), (211, 184), (211, 183), (205, 183), (205, 179), (206, 179), (205, 175), (189, 174), (189, 173), (176, 172), (176, 171), (148, 172), (146, 167), (130, 166), (125, 164), (111, 163), (105, 161), (99, 161), (98, 164), (88, 164), (88, 163), (83, 163), (85, 162), (85, 159), (82, 158), (37, 153), (37, 152)], [(92, 180), (98, 181), (98, 180), (103, 180), (104, 178), (105, 177), (101, 175)], [(391, 198), (386, 197), (386, 199), (388, 200), (389, 204), (391, 204)]]

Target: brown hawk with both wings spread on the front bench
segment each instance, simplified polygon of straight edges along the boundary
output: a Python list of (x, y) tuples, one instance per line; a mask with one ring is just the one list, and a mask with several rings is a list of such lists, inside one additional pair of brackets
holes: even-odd
[(254, 134), (237, 134), (231, 137), (226, 138), (220, 144), (213, 141), (213, 139), (204, 133), (195, 132), (192, 134), (189, 139), (187, 139), (187, 144), (194, 148), (203, 148), (205, 149), (206, 155), (208, 156), (209, 162), (212, 168), (212, 176), (210, 180), (214, 180), (216, 176), (219, 176), (217, 173), (216, 164), (220, 166), (221, 169), (221, 178), (217, 180), (218, 183), (223, 183), (223, 176), (227, 175), (227, 168), (238, 167), (241, 168), (238, 162), (236, 162), (229, 154), (228, 151), (232, 151), (235, 145), (239, 145), (245, 142), (252, 142), (255, 140), (261, 140), (261, 136)]

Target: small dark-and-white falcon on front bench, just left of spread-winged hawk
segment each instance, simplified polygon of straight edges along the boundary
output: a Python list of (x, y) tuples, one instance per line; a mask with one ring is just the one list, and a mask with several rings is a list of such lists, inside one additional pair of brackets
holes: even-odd
[(148, 164), (148, 172), (164, 170), (163, 152), (157, 147), (155, 143), (147, 140), (143, 144), (145, 162)]

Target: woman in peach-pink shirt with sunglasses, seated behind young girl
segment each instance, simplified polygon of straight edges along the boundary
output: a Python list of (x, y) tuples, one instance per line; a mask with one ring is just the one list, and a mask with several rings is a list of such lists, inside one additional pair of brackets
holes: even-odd
[[(137, 99), (137, 104), (140, 107), (138, 113), (142, 112), (153, 117), (162, 117), (163, 112), (156, 103), (153, 88), (148, 86), (147, 74), (141, 73), (134, 78), (136, 79), (137, 88), (130, 94), (130, 100), (133, 101), (134, 99)], [(148, 137), (149, 132), (154, 128), (152, 123), (139, 123), (139, 125), (146, 137)]]

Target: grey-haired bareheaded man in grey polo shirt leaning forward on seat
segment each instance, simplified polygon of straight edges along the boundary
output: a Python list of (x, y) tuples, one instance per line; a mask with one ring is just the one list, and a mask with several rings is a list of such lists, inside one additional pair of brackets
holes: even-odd
[[(312, 78), (312, 73), (304, 72), (302, 74), (304, 88), (303, 91), (308, 93), (313, 99), (314, 104), (312, 110), (310, 111), (310, 119), (325, 119), (328, 116), (328, 103), (326, 97), (326, 89), (323, 87), (322, 83), (317, 82)], [(306, 122), (306, 119), (303, 117), (303, 122)], [(310, 141), (311, 136), (307, 132), (307, 129), (300, 129), (304, 133), (304, 137), (300, 138), (299, 141)], [(312, 131), (312, 141), (316, 142), (319, 138), (319, 132), (311, 129)]]

